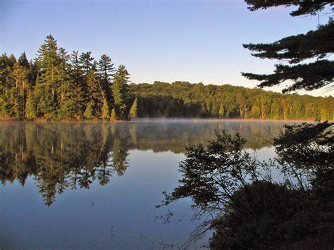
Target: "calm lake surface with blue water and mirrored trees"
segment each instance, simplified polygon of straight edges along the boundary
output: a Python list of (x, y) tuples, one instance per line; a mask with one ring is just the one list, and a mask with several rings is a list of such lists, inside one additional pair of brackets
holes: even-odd
[[(161, 204), (189, 144), (239, 132), (260, 158), (283, 123), (135, 120), (0, 123), (0, 249), (178, 248), (199, 224), (192, 202)], [(169, 217), (168, 214), (174, 215)], [(195, 242), (200, 249), (210, 235)]]

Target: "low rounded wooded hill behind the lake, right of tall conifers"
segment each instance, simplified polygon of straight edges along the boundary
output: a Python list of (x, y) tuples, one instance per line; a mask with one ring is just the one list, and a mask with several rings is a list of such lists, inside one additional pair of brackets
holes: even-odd
[(154, 82), (130, 85), (140, 117), (333, 120), (333, 96), (266, 92), (232, 85)]

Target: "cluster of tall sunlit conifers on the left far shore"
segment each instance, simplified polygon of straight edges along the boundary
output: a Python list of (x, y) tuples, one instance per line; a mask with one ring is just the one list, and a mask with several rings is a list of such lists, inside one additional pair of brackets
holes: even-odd
[(99, 62), (94, 61), (90, 51), (80, 56), (78, 51), (73, 51), (69, 56), (65, 49), (58, 48), (56, 39), (48, 35), (35, 61), (29, 63), (25, 53), (18, 60), (13, 55), (0, 56), (0, 116), (27, 118), (28, 92), (33, 92), (37, 115), (29, 117), (80, 119), (89, 102), (84, 117), (107, 118), (103, 105), (104, 99), (109, 106), (114, 104), (113, 78), (118, 88), (118, 104), (113, 106), (121, 119), (128, 119), (132, 100), (128, 88), (130, 74), (124, 65), (118, 68), (117, 77), (113, 70), (109, 56), (102, 55)]

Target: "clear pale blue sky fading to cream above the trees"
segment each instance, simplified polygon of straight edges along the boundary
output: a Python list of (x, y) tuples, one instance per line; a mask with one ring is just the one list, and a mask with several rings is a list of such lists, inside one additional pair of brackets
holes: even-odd
[[(316, 29), (318, 17), (292, 8), (249, 11), (243, 0), (0, 0), (0, 52), (35, 58), (51, 34), (69, 53), (92, 51), (124, 64), (135, 83), (203, 82), (256, 87), (240, 72), (272, 73), (275, 60), (254, 58), (242, 44), (274, 42)], [(328, 16), (320, 16), (325, 24)], [(282, 87), (285, 87), (283, 83)], [(266, 88), (280, 92), (282, 87)], [(334, 95), (318, 89), (298, 94)]]

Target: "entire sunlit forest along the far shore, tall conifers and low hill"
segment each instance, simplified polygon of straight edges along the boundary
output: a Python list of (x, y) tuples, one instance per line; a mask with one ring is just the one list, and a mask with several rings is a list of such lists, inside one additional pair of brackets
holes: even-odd
[(124, 65), (68, 54), (47, 36), (35, 60), (0, 56), (0, 118), (204, 117), (333, 120), (334, 99), (190, 82), (130, 84)]

